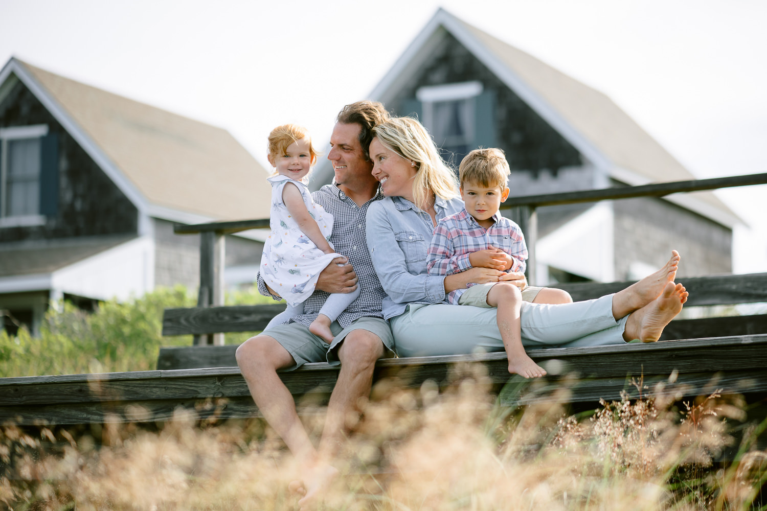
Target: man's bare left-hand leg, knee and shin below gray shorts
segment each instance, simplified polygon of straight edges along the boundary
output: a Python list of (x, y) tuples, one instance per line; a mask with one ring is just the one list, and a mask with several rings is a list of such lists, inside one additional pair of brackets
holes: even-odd
[(261, 334), (243, 342), (236, 358), (253, 401), (266, 421), (301, 463), (314, 463), (317, 451), (298, 418), (293, 396), (277, 375), (277, 369), (295, 363), (291, 354), (274, 338)]

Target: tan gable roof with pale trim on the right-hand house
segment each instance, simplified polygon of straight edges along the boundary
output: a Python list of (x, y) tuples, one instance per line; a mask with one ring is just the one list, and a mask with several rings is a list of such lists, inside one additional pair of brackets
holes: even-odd
[[(439, 8), (370, 93), (387, 103), (452, 34), (597, 168), (628, 185), (696, 179), (604, 93)], [(712, 192), (667, 197), (732, 227), (742, 222)]]

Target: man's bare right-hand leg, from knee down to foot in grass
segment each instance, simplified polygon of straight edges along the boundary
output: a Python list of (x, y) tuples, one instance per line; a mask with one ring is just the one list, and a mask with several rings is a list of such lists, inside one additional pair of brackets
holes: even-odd
[(373, 383), (373, 369), (376, 360), (384, 355), (384, 343), (374, 333), (364, 329), (352, 330), (338, 349), (341, 371), (333, 394), (328, 402), (328, 415), (322, 430), (318, 464), (304, 473), (306, 496), (298, 501), (299, 506), (309, 506), (321, 498), (337, 470), (328, 460), (337, 453), (344, 437), (347, 414), (357, 412), (357, 403), (370, 395)]

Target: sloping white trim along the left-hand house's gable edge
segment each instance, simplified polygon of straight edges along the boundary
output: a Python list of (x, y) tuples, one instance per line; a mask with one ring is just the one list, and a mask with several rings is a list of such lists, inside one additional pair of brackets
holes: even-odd
[(54, 97), (48, 93), (38, 80), (29, 72), (26, 67), (21, 64), (15, 57), (11, 57), (8, 64), (5, 64), (2, 70), (0, 70), (0, 84), (5, 83), (5, 80), (10, 74), (15, 74), (18, 80), (24, 84), (32, 94), (43, 104), (43, 106), (54, 116), (54, 119), (67, 130), (67, 133), (77, 142), (88, 156), (96, 162), (100, 169), (107, 174), (107, 176), (120, 188), (120, 192), (123, 192), (129, 201), (136, 206), (140, 213), (145, 212), (147, 208), (147, 201), (143, 194), (139, 191), (136, 185), (123, 174), (120, 168), (106, 155), (106, 153), (98, 146), (90, 136), (85, 133), (77, 122), (72, 119), (69, 113), (58, 103)]

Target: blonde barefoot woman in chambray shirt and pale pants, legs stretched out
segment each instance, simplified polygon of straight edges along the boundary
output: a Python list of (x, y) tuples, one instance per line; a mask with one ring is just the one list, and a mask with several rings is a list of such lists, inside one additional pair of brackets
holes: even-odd
[[(439, 219), (463, 207), (456, 179), (418, 121), (394, 118), (374, 128), (373, 175), (386, 197), (370, 205), (367, 245), (387, 297), (400, 356), (452, 355), (503, 349), (495, 309), (441, 303), (467, 283), (518, 278), (491, 268), (430, 276), (426, 251)], [(627, 289), (597, 300), (560, 305), (522, 304), (527, 347), (597, 346), (630, 339), (656, 341), (682, 309), (687, 293), (674, 284), (679, 256)], [(524, 277), (522, 277), (524, 278)]]

